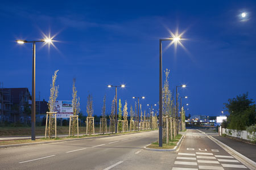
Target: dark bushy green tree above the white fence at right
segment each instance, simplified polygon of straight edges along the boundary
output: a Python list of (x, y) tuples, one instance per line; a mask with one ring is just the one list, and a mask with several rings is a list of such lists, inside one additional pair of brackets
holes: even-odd
[(248, 99), (248, 93), (228, 99), (228, 103), (224, 103), (229, 112), (229, 129), (245, 130), (246, 126), (255, 124), (256, 111), (253, 103), (253, 99)]

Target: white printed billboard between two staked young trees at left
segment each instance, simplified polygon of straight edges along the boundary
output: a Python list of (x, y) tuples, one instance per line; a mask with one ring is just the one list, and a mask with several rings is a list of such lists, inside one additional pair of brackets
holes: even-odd
[(72, 101), (56, 100), (53, 106), (53, 112), (57, 112), (57, 118), (69, 118), (73, 115)]

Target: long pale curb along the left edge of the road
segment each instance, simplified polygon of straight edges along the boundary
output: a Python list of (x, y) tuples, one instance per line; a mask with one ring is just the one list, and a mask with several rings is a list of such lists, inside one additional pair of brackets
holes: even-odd
[[(155, 130), (150, 130), (155, 131)], [(144, 133), (149, 131), (139, 131), (135, 133), (127, 133), (127, 134), (137, 134), (137, 133)], [(1, 145), (0, 149), (2, 148), (11, 148), (11, 147), (22, 147), (22, 146), (34, 146), (34, 145), (47, 145), (52, 143), (61, 143), (61, 142), (71, 142), (71, 141), (79, 141), (79, 140), (86, 140), (86, 139), (93, 139), (93, 138), (105, 138), (105, 137), (115, 137), (119, 135), (127, 135), (127, 134), (112, 134), (112, 135), (105, 135), (105, 136), (97, 136), (97, 137), (84, 137), (84, 138), (74, 138), (74, 139), (63, 139), (59, 141), (46, 141), (46, 142), (33, 142), (33, 143), (19, 143), (13, 145)]]

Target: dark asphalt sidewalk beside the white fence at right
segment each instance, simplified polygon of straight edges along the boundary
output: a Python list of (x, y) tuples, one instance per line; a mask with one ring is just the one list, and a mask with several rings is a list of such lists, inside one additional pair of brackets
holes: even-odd
[(212, 136), (213, 138), (217, 139), (218, 141), (224, 143), (225, 145), (233, 148), (240, 154), (246, 156), (250, 160), (256, 162), (256, 145), (251, 145), (246, 142), (238, 141), (236, 139), (231, 139), (228, 137), (221, 137), (221, 136)]

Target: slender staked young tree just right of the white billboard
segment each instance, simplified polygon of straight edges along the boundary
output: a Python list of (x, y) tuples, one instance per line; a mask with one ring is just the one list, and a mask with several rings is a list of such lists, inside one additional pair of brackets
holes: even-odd
[[(80, 112), (80, 97), (77, 97), (77, 90), (76, 90), (76, 79), (73, 78), (73, 93), (72, 93), (72, 107), (73, 107), (73, 116), (77, 116)], [(75, 135), (75, 131), (77, 128), (77, 120), (74, 118), (72, 119), (72, 135)]]

